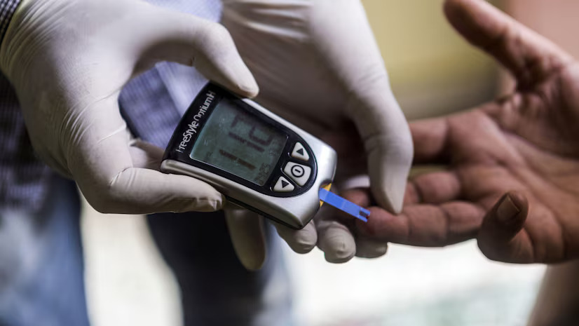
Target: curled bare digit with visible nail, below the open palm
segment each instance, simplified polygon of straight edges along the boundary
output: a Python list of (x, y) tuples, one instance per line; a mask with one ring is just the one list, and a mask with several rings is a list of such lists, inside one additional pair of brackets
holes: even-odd
[(529, 203), (522, 193), (505, 193), (483, 219), (477, 237), (482, 253), (500, 262), (533, 262), (531, 242), (522, 232), (528, 212)]

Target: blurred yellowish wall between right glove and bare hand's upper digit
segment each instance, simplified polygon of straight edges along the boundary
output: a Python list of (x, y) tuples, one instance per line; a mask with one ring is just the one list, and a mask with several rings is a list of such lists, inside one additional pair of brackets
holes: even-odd
[(495, 95), (496, 65), (454, 32), (442, 0), (362, 3), (407, 118), (467, 109)]

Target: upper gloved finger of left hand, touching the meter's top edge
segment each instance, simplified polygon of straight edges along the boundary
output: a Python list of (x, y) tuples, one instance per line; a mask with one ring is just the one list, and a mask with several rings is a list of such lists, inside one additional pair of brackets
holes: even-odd
[(174, 11), (160, 13), (156, 7), (151, 16), (147, 35), (142, 38), (149, 43), (139, 67), (159, 60), (179, 62), (195, 67), (207, 79), (233, 93), (257, 95), (257, 83), (223, 25)]

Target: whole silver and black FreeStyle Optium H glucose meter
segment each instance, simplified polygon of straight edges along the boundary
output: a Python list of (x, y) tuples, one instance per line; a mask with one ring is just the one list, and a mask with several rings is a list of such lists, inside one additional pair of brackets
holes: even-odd
[(244, 208), (301, 229), (331, 184), (336, 151), (259, 104), (211, 83), (173, 134), (161, 170), (203, 180)]

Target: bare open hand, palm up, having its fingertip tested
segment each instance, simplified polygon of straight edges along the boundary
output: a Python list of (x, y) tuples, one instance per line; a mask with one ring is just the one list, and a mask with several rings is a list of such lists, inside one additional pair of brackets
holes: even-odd
[(444, 13), (517, 80), (511, 95), (411, 123), (415, 165), (445, 165), (409, 182), (400, 215), (366, 189), (357, 238), (444, 246), (477, 238), (490, 259), (553, 263), (579, 256), (579, 65), (553, 43), (479, 0)]

